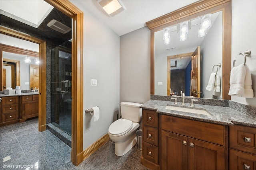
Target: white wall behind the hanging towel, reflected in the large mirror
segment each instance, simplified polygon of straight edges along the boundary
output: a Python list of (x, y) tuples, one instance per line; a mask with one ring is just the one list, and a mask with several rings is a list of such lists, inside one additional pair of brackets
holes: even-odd
[[(201, 91), (203, 92), (203, 97), (212, 98), (212, 95), (222, 97), (222, 88), (220, 88), (221, 92), (219, 93), (206, 90), (212, 73), (212, 67), (222, 63), (222, 12), (220, 12), (214, 24), (212, 24), (211, 29), (200, 45), (200, 50), (202, 55)], [(214, 67), (214, 72), (216, 72), (216, 67)], [(220, 87), (222, 87), (222, 67), (218, 70), (218, 75), (220, 76)]]

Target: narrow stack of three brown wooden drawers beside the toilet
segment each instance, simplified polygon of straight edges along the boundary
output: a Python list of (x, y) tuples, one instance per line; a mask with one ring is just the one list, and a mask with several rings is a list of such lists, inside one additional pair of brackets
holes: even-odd
[(159, 128), (156, 111), (143, 109), (142, 112), (142, 157), (141, 164), (150, 169), (159, 169)]

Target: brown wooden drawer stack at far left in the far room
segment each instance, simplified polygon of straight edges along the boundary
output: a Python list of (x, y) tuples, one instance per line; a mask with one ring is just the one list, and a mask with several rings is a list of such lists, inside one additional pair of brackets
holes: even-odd
[(10, 96), (2, 97), (1, 102), (2, 116), (0, 123), (7, 125), (8, 123), (16, 123), (19, 119), (19, 97)]

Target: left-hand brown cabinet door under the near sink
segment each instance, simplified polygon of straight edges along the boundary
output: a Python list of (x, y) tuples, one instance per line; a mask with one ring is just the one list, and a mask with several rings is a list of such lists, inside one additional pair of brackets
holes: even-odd
[(162, 169), (188, 169), (188, 137), (162, 131)]

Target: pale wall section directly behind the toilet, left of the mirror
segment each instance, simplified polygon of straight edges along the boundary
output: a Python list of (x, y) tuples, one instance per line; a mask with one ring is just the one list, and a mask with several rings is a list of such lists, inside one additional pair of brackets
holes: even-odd
[(120, 37), (120, 102), (150, 100), (150, 30), (143, 27)]

